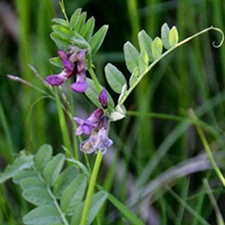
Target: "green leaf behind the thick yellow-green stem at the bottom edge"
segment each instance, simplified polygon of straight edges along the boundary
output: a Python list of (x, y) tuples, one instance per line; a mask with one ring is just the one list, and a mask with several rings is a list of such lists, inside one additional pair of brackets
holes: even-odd
[[(99, 191), (92, 196), (90, 209), (89, 209), (89, 212), (87, 215), (86, 225), (92, 224), (93, 220), (95, 219), (95, 217), (99, 213), (102, 205), (104, 204), (105, 200), (107, 199), (107, 196), (108, 196), (108, 194), (105, 191)], [(76, 208), (76, 210), (73, 214), (73, 217), (71, 219), (71, 224), (80, 224), (83, 207), (84, 207), (84, 203), (80, 204)]]

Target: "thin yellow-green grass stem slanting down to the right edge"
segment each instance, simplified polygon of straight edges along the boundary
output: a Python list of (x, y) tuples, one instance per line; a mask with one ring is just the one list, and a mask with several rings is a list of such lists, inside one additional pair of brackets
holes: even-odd
[(204, 134), (201, 126), (199, 125), (198, 118), (194, 114), (194, 111), (193, 110), (190, 111), (190, 115), (197, 122), (195, 124), (195, 127), (196, 127), (196, 130), (198, 132), (198, 135), (199, 135), (199, 137), (200, 137), (200, 139), (202, 141), (202, 144), (203, 144), (203, 147), (204, 147), (204, 149), (206, 151), (206, 154), (208, 155), (208, 158), (209, 158), (209, 160), (210, 160), (210, 162), (211, 162), (211, 164), (213, 166), (213, 169), (215, 170), (217, 176), (219, 177), (220, 181), (222, 182), (223, 186), (225, 187), (225, 178), (224, 178), (222, 172), (220, 171), (218, 165), (216, 164), (216, 161), (215, 161), (215, 159), (213, 157), (212, 151), (211, 151), (211, 149), (209, 147), (209, 144), (207, 142), (207, 139), (205, 137), (205, 134)]

